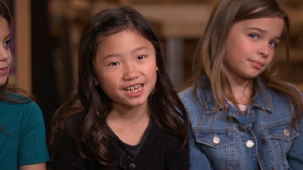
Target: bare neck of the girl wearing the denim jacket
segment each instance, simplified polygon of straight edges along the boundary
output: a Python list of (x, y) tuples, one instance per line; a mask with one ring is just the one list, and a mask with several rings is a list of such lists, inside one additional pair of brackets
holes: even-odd
[(250, 103), (253, 93), (253, 79), (245, 79), (236, 75), (226, 74), (229, 85), (238, 104)]

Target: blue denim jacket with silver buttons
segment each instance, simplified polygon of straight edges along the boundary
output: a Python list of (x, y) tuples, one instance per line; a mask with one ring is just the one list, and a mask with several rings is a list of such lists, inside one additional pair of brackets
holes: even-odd
[(216, 114), (208, 80), (179, 93), (190, 122), (191, 170), (303, 169), (303, 122), (290, 127), (287, 99), (256, 81), (260, 90), (245, 115), (226, 102), (232, 120), (222, 109)]

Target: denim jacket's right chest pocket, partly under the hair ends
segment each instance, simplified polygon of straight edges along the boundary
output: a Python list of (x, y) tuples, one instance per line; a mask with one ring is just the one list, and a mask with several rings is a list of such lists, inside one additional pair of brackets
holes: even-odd
[(279, 157), (279, 162), (282, 166), (288, 167), (286, 153), (290, 150), (292, 140), (299, 136), (299, 132), (287, 125), (278, 125), (266, 128), (268, 136)]

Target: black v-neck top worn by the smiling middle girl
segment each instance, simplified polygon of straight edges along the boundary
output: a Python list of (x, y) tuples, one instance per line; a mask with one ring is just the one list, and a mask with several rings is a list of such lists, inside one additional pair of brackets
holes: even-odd
[[(94, 160), (82, 159), (74, 149), (74, 138), (70, 130), (64, 129), (59, 137), (53, 154), (54, 170), (103, 170), (103, 169), (134, 169), (134, 170), (188, 170), (189, 149), (182, 148), (183, 142), (177, 136), (166, 133), (155, 122), (150, 122), (149, 132), (146, 129), (145, 141), (141, 149), (132, 153), (119, 140), (112, 140), (111, 151), (115, 153), (114, 165), (105, 167)], [(73, 128), (72, 128), (73, 129)], [(122, 142), (122, 141), (121, 141)], [(137, 146), (135, 146), (137, 147)], [(82, 145), (82, 153), (90, 156), (89, 146)], [(138, 149), (138, 148), (137, 148)], [(127, 151), (128, 150), (128, 151)], [(133, 156), (131, 156), (133, 155)], [(136, 156), (135, 156), (136, 155)], [(130, 158), (128, 158), (130, 157)], [(122, 163), (122, 166), (120, 165)]]

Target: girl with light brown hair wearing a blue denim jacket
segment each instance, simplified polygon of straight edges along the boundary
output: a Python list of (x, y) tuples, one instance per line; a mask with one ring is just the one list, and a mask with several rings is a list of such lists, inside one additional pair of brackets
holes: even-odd
[(190, 169), (303, 169), (302, 95), (270, 69), (289, 22), (275, 0), (219, 0), (179, 96)]

